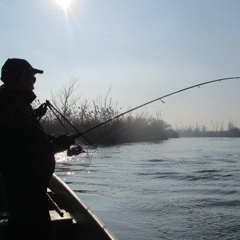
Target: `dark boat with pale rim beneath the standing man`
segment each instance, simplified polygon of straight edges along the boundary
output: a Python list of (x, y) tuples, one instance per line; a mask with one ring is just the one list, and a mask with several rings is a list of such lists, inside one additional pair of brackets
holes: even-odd
[[(50, 202), (52, 240), (117, 239), (74, 191), (55, 174), (50, 181), (47, 196)], [(3, 202), (3, 196), (0, 197), (0, 201)], [(8, 213), (3, 206), (0, 208), (0, 239), (4, 239), (6, 235), (8, 221)]]

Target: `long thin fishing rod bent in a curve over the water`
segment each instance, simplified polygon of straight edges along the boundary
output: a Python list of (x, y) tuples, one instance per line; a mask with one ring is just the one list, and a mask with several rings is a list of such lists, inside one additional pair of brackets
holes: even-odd
[[(153, 100), (151, 100), (151, 101), (149, 101), (149, 102), (146, 102), (146, 103), (144, 103), (144, 104), (141, 104), (141, 105), (139, 105), (139, 106), (137, 106), (137, 107), (135, 107), (135, 108), (132, 108), (132, 109), (126, 111), (126, 112), (123, 112), (123, 113), (121, 113), (121, 114), (119, 114), (119, 115), (117, 115), (117, 116), (115, 116), (115, 117), (113, 117), (113, 118), (110, 118), (110, 119), (108, 119), (108, 120), (106, 120), (106, 121), (104, 121), (104, 122), (102, 122), (102, 123), (99, 123), (99, 124), (97, 124), (96, 126), (93, 126), (93, 127), (89, 128), (89, 129), (87, 129), (87, 130), (85, 130), (85, 131), (83, 131), (83, 132), (81, 132), (81, 133), (74, 134), (74, 135), (72, 135), (72, 138), (73, 138), (73, 139), (77, 139), (77, 138), (81, 137), (83, 134), (86, 134), (86, 133), (94, 130), (95, 128), (98, 128), (98, 127), (100, 127), (100, 126), (102, 126), (102, 125), (104, 125), (104, 124), (106, 124), (106, 123), (109, 123), (109, 122), (111, 122), (111, 121), (113, 121), (113, 120), (115, 120), (115, 119), (117, 119), (117, 118), (119, 118), (119, 117), (121, 117), (121, 116), (123, 116), (123, 115), (125, 115), (125, 114), (127, 114), (127, 113), (130, 113), (130, 112), (132, 112), (132, 111), (135, 111), (135, 110), (137, 110), (137, 109), (139, 109), (139, 108), (141, 108), (141, 107), (144, 107), (144, 106), (146, 106), (146, 105), (149, 105), (149, 104), (151, 104), (151, 103), (153, 103), (153, 102), (156, 102), (156, 101), (159, 101), (159, 100), (162, 101), (163, 98), (167, 98), (167, 97), (172, 96), (172, 95), (175, 95), (175, 94), (177, 94), (177, 93), (184, 92), (184, 91), (187, 91), (187, 90), (192, 89), (192, 88), (200, 87), (200, 86), (202, 86), (202, 85), (206, 85), (206, 84), (210, 84), (210, 83), (214, 83), (214, 82), (226, 81), (226, 80), (239, 79), (239, 78), (240, 78), (240, 77), (220, 78), (220, 79), (216, 79), (216, 80), (212, 80), (212, 81), (208, 81), (208, 82), (203, 82), (203, 83), (199, 83), (199, 84), (196, 84), (196, 85), (193, 85), (193, 86), (190, 86), (190, 87), (186, 87), (186, 88), (180, 89), (180, 90), (178, 90), (178, 91), (169, 93), (169, 94), (164, 95), (164, 96), (162, 96), (162, 97), (159, 97), (159, 98), (153, 99)], [(164, 103), (164, 101), (162, 101), (162, 102)]]

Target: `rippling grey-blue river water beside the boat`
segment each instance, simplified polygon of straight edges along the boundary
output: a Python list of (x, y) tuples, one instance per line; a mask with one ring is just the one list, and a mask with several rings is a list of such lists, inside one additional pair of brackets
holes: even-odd
[(56, 173), (120, 240), (240, 239), (240, 138), (59, 155)]

